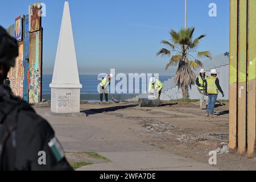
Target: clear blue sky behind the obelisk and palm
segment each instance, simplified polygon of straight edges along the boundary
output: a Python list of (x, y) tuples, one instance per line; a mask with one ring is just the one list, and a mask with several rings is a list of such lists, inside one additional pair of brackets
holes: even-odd
[[(229, 0), (187, 0), (188, 27), (195, 36), (207, 34), (199, 46), (212, 55), (229, 51)], [(0, 24), (7, 28), (20, 14), (28, 14), (32, 0), (1, 1)], [(64, 0), (44, 0), (43, 71), (52, 73)], [(209, 3), (217, 4), (217, 17), (209, 17)], [(156, 57), (169, 40), (168, 31), (184, 26), (184, 0), (69, 0), (77, 63), (81, 75), (109, 72), (160, 73), (168, 58)]]

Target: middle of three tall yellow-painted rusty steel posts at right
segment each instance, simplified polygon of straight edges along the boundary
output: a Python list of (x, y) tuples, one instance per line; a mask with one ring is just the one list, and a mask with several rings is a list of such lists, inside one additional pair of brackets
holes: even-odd
[(238, 154), (246, 153), (247, 1), (239, 1), (238, 30)]

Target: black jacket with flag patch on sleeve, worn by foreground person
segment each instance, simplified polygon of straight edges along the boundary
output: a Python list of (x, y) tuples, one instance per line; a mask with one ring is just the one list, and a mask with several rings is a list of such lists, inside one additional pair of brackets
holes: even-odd
[[(0, 169), (72, 170), (59, 142), (55, 140), (55, 148), (50, 147), (49, 142), (54, 139), (49, 123), (26, 102), (13, 96), (8, 86), (0, 85)], [(53, 150), (56, 148), (58, 150)]]

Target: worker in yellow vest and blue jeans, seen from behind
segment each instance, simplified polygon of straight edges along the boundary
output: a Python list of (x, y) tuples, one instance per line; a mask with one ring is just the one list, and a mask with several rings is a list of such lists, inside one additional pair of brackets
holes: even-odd
[(212, 69), (210, 71), (210, 76), (207, 78), (207, 82), (205, 83), (205, 93), (208, 94), (209, 97), (206, 115), (207, 117), (214, 118), (214, 106), (219, 91), (221, 92), (222, 97), (224, 97), (220, 82), (217, 78), (217, 71), (216, 69)]

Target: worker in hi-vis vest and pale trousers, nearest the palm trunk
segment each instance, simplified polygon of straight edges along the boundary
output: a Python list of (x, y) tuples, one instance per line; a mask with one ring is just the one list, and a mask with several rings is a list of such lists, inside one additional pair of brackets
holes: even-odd
[(205, 109), (206, 106), (203, 106), (204, 102), (206, 102), (206, 105), (208, 105), (208, 98), (205, 96), (204, 92), (204, 87), (205, 87), (205, 82), (206, 82), (206, 76), (205, 76), (205, 71), (204, 69), (200, 70), (200, 76), (196, 78), (196, 85), (197, 89), (199, 90), (200, 93), (200, 109)]

